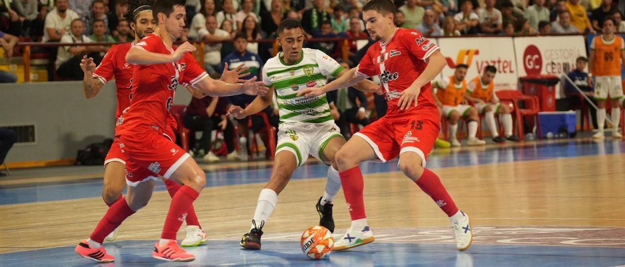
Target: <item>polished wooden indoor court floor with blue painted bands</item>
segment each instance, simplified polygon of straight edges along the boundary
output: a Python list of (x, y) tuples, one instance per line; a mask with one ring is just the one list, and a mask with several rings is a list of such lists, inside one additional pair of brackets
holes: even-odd
[[(105, 247), (106, 266), (617, 266), (625, 265), (625, 142), (577, 138), (436, 149), (427, 167), (471, 217), (469, 250), (455, 248), (449, 220), (399, 172), (397, 160), (364, 163), (364, 200), (376, 241), (308, 260), (299, 236), (316, 225), (327, 166), (309, 160), (279, 196), (262, 229), (262, 250), (242, 250), (271, 162), (201, 165), (207, 188), (194, 206), (209, 235), (191, 263), (151, 257), (169, 207), (162, 182), (146, 208)], [(93, 266), (74, 253), (106, 211), (102, 167), (12, 170), (0, 179), (0, 266)], [(334, 200), (336, 232), (349, 227)], [(184, 225), (183, 225), (184, 228)], [(184, 238), (184, 230), (178, 239)]]

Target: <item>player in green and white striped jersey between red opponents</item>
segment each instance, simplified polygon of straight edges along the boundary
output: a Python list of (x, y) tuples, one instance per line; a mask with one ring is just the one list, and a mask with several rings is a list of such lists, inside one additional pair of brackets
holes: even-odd
[[(251, 250), (261, 248), (262, 227), (276, 206), (277, 195), (308, 155), (331, 165), (327, 170), (326, 190), (317, 201), (319, 225), (330, 231), (334, 231), (332, 198), (341, 189), (334, 154), (346, 141), (334, 124), (326, 95), (298, 97), (297, 92), (325, 85), (328, 77), (339, 77), (347, 70), (321, 51), (302, 49), (304, 31), (299, 21), (284, 19), (278, 26), (278, 33), (277, 42), (282, 52), (269, 59), (262, 69), (262, 80), (272, 89), (264, 97), (256, 97), (245, 109), (236, 106), (229, 109), (230, 114), (242, 119), (265, 109), (271, 104), (274, 92), (277, 95), (280, 124), (274, 168), (258, 197), (251, 230), (241, 240), (241, 246)], [(377, 91), (379, 86), (364, 80), (356, 88), (371, 92)]]

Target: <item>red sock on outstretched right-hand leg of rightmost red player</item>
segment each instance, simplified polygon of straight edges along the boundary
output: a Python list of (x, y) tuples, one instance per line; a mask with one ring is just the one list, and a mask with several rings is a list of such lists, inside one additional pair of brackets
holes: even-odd
[(438, 178), (436, 173), (433, 173), (427, 168), (424, 169), (421, 178), (417, 180), (416, 184), (429, 195), (432, 200), (436, 201), (436, 204), (442, 211), (447, 213), (447, 216), (451, 217), (458, 212), (456, 203), (449, 197), (449, 193), (441, 183), (441, 179)]

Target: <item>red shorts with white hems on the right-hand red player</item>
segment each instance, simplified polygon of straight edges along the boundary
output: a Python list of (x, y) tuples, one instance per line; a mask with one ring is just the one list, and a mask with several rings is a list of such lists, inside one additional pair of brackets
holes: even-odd
[(427, 155), (441, 129), (436, 107), (416, 109), (399, 114), (386, 114), (354, 134), (369, 143), (379, 162), (392, 160), (404, 152), (421, 156), (425, 167)]

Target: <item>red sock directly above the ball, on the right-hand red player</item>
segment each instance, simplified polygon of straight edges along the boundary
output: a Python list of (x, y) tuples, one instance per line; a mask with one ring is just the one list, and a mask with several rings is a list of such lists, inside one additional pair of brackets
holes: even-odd
[(339, 172), (339, 177), (341, 177), (343, 193), (345, 194), (345, 201), (347, 201), (347, 208), (349, 208), (349, 215), (351, 215), (352, 221), (367, 218), (364, 214), (364, 200), (362, 200), (364, 180), (362, 179), (360, 167), (356, 166), (344, 172)]

